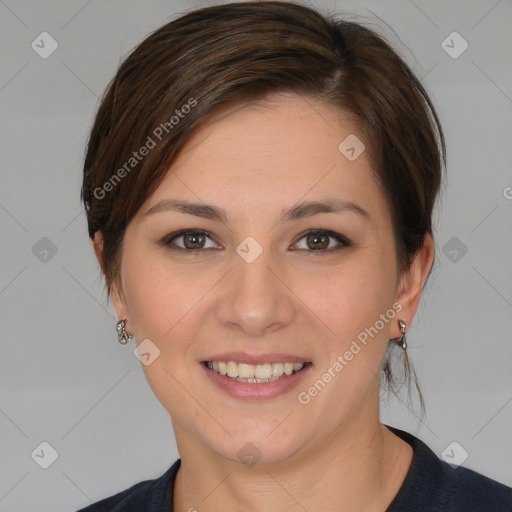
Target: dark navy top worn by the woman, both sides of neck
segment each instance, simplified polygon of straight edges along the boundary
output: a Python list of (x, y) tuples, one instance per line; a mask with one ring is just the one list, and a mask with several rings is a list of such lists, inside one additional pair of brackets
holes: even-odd
[[(386, 425), (412, 446), (402, 487), (385, 512), (512, 512), (512, 488), (471, 469), (452, 467), (418, 438)], [(178, 459), (161, 477), (144, 480), (77, 512), (172, 512)]]

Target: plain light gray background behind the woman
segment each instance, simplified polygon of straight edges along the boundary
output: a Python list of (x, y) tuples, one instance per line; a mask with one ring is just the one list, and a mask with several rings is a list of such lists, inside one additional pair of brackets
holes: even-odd
[[(116, 341), (80, 170), (120, 58), (207, 3), (0, 0), (4, 512), (76, 510), (160, 476), (178, 456), (133, 346)], [(358, 14), (390, 38), (423, 77), (447, 137), (435, 268), (408, 336), (427, 415), (421, 421), (405, 397), (390, 398), (382, 421), (439, 455), (457, 441), (465, 467), (512, 485), (512, 2), (316, 5)], [(43, 31), (58, 42), (46, 59), (31, 47)], [(469, 44), (458, 58), (441, 46), (453, 31)], [(58, 452), (47, 469), (31, 456), (44, 441)]]

